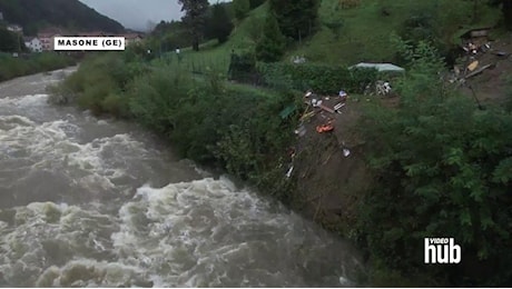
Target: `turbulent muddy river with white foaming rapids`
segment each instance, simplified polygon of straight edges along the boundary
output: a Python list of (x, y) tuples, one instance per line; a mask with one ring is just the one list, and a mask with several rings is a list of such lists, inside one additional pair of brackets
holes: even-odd
[(355, 250), (129, 122), (0, 83), (1, 287), (347, 287)]

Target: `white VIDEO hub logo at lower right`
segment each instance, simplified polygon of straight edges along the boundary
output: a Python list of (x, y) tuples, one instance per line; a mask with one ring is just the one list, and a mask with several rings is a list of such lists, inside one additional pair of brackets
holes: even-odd
[(425, 238), (425, 263), (460, 263), (461, 255), (454, 238)]

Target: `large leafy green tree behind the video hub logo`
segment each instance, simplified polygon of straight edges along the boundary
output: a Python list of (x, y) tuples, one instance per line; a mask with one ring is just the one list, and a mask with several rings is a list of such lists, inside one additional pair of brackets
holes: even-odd
[[(363, 126), (376, 176), (360, 211), (363, 240), (375, 260), (404, 276), (423, 273), (444, 286), (506, 285), (512, 114), (480, 110), (446, 87), (429, 43), (404, 47), (411, 68), (397, 86), (400, 108), (372, 107)], [(461, 245), (459, 267), (423, 265), (423, 238), (436, 236)]]

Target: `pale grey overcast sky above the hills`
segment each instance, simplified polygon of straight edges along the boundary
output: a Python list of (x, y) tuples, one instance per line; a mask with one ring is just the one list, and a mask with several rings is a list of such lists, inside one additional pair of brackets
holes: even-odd
[[(117, 20), (126, 28), (146, 31), (149, 22), (181, 18), (178, 0), (80, 0), (101, 14)], [(211, 1), (210, 3), (217, 2)]]

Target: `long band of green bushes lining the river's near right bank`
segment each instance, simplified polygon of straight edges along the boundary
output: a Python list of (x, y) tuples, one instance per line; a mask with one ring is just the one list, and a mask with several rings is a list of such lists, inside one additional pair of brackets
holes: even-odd
[(301, 99), (292, 92), (228, 83), (213, 71), (197, 77), (165, 63), (125, 62), (114, 53), (85, 61), (53, 92), (95, 113), (134, 118), (183, 157), (225, 168), (282, 199), (294, 185), (283, 165), (296, 118), (279, 116)]

